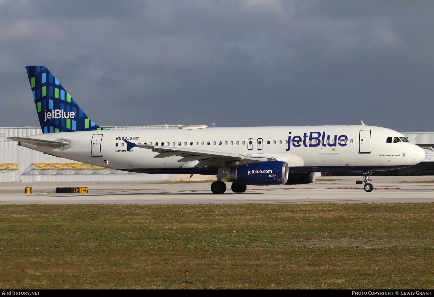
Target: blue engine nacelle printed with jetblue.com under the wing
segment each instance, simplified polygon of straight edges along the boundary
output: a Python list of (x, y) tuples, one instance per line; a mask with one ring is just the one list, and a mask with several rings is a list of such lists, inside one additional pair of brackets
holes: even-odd
[(288, 181), (288, 163), (267, 161), (230, 167), (227, 181), (243, 185), (281, 185)]

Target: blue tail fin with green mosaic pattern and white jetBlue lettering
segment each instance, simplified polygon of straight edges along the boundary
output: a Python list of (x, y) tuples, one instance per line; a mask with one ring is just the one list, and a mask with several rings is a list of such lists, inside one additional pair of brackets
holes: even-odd
[(43, 133), (105, 130), (95, 125), (44, 66), (26, 66)]

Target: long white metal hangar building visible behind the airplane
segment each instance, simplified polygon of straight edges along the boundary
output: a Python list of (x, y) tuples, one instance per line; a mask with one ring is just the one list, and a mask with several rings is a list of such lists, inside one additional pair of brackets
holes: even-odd
[[(212, 124), (211, 124), (212, 125)], [(177, 125), (168, 126), (177, 128)], [(107, 129), (167, 129), (167, 126), (110, 126)], [(25, 137), (41, 134), (40, 127), (0, 128), (0, 182), (23, 181), (164, 181), (175, 175), (153, 175), (124, 172), (78, 163), (44, 155), (17, 145), (6, 137)], [(402, 133), (410, 142), (424, 148), (426, 158), (409, 168), (381, 172), (381, 175), (434, 175), (434, 132)], [(374, 173), (375, 174), (375, 173)], [(317, 174), (319, 175), (319, 174)], [(334, 173), (333, 175), (339, 175)], [(344, 175), (344, 174), (342, 174)], [(345, 174), (357, 175), (357, 174)], [(378, 173), (377, 173), (378, 175)], [(198, 176), (200, 178), (201, 176)], [(207, 178), (208, 179), (208, 178)]]

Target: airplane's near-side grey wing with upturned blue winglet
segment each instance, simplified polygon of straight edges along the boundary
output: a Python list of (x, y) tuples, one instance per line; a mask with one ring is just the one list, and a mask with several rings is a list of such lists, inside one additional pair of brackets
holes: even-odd
[[(158, 153), (154, 158), (167, 158), (171, 156), (183, 157), (178, 160), (179, 163), (190, 162), (190, 161), (200, 161), (195, 167), (203, 167), (208, 165), (213, 165), (217, 162), (228, 162), (228, 161), (241, 161), (244, 159), (252, 160), (253, 162), (269, 161), (272, 158), (261, 158), (253, 157), (248, 155), (233, 154), (228, 152), (214, 152), (214, 151), (204, 151), (192, 148), (175, 148), (170, 146), (160, 146), (160, 145), (135, 145), (128, 140), (124, 140), (127, 143), (127, 148), (130, 150), (133, 147), (147, 148), (152, 150), (152, 152)], [(273, 159), (274, 160), (274, 159)]]

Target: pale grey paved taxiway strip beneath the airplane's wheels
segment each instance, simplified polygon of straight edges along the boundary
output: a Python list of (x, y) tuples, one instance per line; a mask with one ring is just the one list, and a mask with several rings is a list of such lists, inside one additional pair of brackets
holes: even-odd
[[(158, 184), (138, 182), (1, 183), (0, 204), (243, 204), (243, 203), (420, 203), (434, 202), (433, 176), (373, 177), (365, 192), (357, 177), (322, 177), (310, 185), (247, 186), (244, 193), (212, 194), (210, 183)], [(25, 187), (33, 194), (23, 194)], [(56, 194), (56, 187), (88, 187), (89, 194)]]

